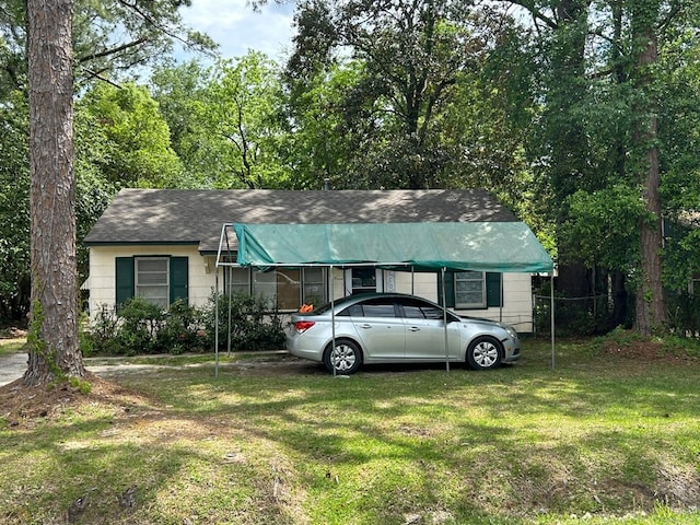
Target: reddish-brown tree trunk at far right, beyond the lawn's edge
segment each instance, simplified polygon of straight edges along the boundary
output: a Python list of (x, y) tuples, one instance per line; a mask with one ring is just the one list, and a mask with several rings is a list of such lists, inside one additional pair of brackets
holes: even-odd
[(644, 202), (646, 210), (653, 217), (653, 221), (641, 221), (641, 276), (638, 284), (635, 303), (637, 329), (642, 334), (651, 334), (654, 329), (664, 326), (666, 322), (666, 305), (662, 282), (662, 207), (658, 186), (661, 184), (658, 168), (657, 139), (657, 104), (654, 95), (650, 94), (653, 88), (653, 73), (651, 69), (657, 58), (656, 18), (658, 14), (658, 1), (650, 0), (635, 4), (632, 13), (632, 31), (637, 57), (637, 88), (645, 105), (637, 105), (634, 108), (634, 151), (641, 160), (640, 179), (644, 187)]

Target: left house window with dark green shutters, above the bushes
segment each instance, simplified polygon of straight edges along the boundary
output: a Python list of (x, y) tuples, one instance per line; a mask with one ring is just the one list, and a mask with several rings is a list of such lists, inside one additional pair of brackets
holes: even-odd
[(117, 257), (115, 264), (117, 307), (135, 296), (163, 308), (188, 300), (187, 257)]

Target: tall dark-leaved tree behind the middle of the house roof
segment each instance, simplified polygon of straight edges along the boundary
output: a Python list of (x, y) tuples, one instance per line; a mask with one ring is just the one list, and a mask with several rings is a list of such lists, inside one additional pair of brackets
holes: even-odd
[(352, 144), (343, 186), (440, 185), (452, 156), (439, 122), (458, 78), (478, 68), (487, 48), (470, 3), (300, 2), (287, 68), (292, 92), (314, 89), (348, 55), (360, 73), (327, 106), (342, 116), (335, 132)]

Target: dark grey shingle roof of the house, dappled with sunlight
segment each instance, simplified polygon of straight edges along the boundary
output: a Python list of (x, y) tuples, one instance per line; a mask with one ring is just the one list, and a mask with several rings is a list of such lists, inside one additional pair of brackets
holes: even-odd
[(197, 244), (215, 252), (223, 224), (513, 222), (479, 189), (122, 189), (84, 240), (101, 244)]

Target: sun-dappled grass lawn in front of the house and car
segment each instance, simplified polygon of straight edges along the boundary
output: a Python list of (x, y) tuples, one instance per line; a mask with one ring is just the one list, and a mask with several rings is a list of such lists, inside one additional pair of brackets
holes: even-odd
[(641, 346), (560, 342), (552, 370), (525, 340), (492, 372), (350, 378), (285, 355), (222, 359), (219, 378), (140, 360), (158, 366), (118, 387), (0, 408), (0, 523), (700, 523), (700, 360)]

